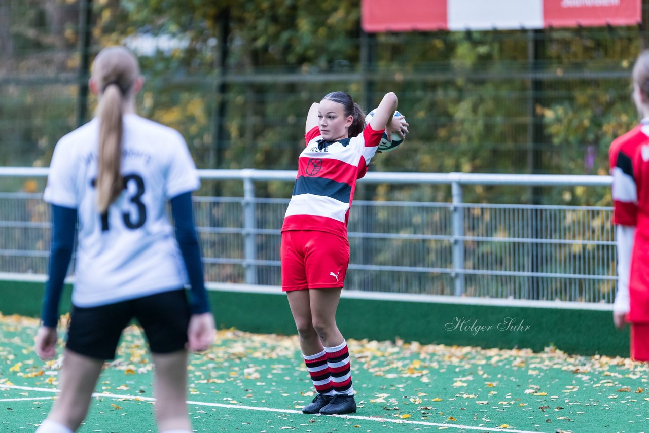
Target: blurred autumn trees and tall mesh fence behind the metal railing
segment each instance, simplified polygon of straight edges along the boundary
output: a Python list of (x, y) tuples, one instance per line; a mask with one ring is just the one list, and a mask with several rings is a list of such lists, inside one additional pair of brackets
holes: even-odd
[[(295, 169), (312, 102), (345, 90), (371, 110), (392, 90), (411, 133), (376, 171), (606, 175), (611, 140), (637, 121), (630, 70), (648, 39), (644, 24), (367, 34), (360, 0), (3, 0), (0, 165), (47, 166), (92, 117), (93, 56), (124, 43), (147, 79), (140, 114), (180, 130), (199, 168)], [(604, 190), (498, 188), (521, 203), (610, 203)]]

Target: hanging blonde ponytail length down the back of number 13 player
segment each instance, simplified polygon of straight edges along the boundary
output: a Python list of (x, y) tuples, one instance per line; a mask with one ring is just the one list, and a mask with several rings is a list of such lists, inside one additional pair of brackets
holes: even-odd
[(119, 86), (106, 86), (99, 108), (99, 159), (97, 162), (97, 208), (104, 214), (123, 190), (121, 153), (124, 125)]

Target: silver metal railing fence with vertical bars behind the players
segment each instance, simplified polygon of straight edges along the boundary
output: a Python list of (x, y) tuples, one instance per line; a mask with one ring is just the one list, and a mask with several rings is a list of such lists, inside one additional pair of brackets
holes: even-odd
[[(3, 182), (42, 184), (47, 169), (0, 168)], [(294, 171), (201, 170), (242, 182), (241, 197), (195, 197), (208, 281), (280, 284), (280, 227), (288, 197), (257, 197), (257, 182)], [(468, 185), (609, 186), (607, 176), (367, 173), (367, 184), (448, 186), (448, 202), (354, 201), (347, 288), (362, 291), (611, 303), (612, 208), (465, 203)], [(42, 190), (32, 186), (33, 190)], [(24, 190), (25, 188), (23, 188)], [(0, 272), (47, 272), (49, 207), (39, 192), (0, 193)]]

